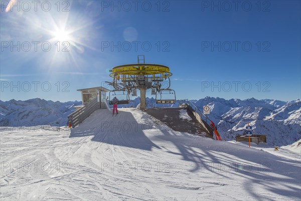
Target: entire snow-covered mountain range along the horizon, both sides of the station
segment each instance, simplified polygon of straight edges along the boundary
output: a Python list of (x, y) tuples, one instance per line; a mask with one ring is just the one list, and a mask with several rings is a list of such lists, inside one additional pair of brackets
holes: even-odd
[[(245, 126), (253, 126), (253, 134), (267, 135), (268, 145), (288, 145), (301, 139), (301, 100), (283, 102), (281, 100), (249, 98), (245, 100), (226, 100), (219, 97), (205, 97), (193, 100), (193, 104), (203, 110), (210, 106), (208, 116), (218, 128), (225, 140), (234, 140), (235, 136), (244, 134)], [(129, 105), (120, 107), (136, 107), (140, 98), (133, 99)], [(165, 107), (179, 107), (182, 100)], [(1, 126), (34, 126), (54, 125), (65, 126), (67, 116), (75, 111), (74, 106), (81, 102), (53, 102), (34, 98), (26, 101), (0, 100)], [(146, 97), (146, 107), (155, 106), (155, 98)], [(157, 106), (158, 107), (158, 106)], [(160, 107), (160, 106), (159, 106)]]

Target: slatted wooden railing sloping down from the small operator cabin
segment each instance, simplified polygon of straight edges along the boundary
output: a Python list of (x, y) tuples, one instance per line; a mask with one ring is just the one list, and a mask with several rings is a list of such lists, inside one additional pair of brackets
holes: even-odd
[(97, 102), (97, 97), (95, 97), (91, 102), (82, 108), (78, 109), (74, 113), (68, 116), (68, 122), (71, 123), (72, 128), (76, 127), (82, 123), (87, 117), (89, 117), (94, 111), (100, 109), (99, 102)]

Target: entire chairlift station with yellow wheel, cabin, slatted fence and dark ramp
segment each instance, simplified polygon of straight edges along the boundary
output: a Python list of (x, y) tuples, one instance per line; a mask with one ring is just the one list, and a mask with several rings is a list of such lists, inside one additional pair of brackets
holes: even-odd
[[(115, 66), (110, 70), (109, 76), (113, 80), (106, 83), (111, 88), (98, 86), (78, 89), (82, 94), (83, 106), (78, 107), (68, 116), (69, 123), (74, 128), (96, 110), (108, 109), (107, 104), (113, 105), (112, 99), (115, 96), (117, 98), (123, 96), (123, 98), (118, 98), (118, 105), (129, 105), (130, 96), (137, 96), (137, 92), (140, 91), (140, 110), (164, 122), (175, 131), (189, 131), (192, 134), (213, 138), (213, 128), (207, 123), (207, 116), (188, 99), (182, 100), (183, 104), (177, 108), (153, 106), (146, 110), (147, 89), (150, 89), (150, 93), (156, 96), (156, 104), (176, 103), (175, 90), (170, 88), (172, 75), (168, 66), (145, 63), (144, 55), (138, 55), (137, 63)], [(107, 92), (108, 96), (106, 96)], [(180, 118), (179, 113), (183, 108), (186, 108), (187, 113), (193, 118), (192, 121), (184, 121)]]

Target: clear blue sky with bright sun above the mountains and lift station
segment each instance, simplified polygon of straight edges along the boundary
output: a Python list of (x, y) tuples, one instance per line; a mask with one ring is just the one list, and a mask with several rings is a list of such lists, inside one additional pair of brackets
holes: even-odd
[(301, 98), (300, 1), (8, 2), (1, 100), (80, 100), (137, 55), (170, 67), (178, 99)]

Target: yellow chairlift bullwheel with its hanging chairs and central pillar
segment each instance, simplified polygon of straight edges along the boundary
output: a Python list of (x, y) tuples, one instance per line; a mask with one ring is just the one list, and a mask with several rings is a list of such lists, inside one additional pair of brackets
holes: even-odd
[[(170, 88), (170, 68), (165, 65), (145, 63), (144, 55), (138, 55), (136, 64), (115, 66), (110, 70), (112, 82), (107, 82), (113, 87), (109, 92), (109, 100), (116, 93), (122, 92), (127, 95), (126, 100), (119, 100), (118, 104), (128, 104), (129, 95), (137, 96), (140, 91), (140, 109), (146, 108), (146, 89), (151, 89), (151, 94), (156, 95), (156, 104), (174, 104), (176, 102), (175, 90)], [(167, 81), (167, 84), (163, 84)], [(166, 86), (165, 86), (166, 85)], [(165, 98), (165, 94), (172, 94), (172, 98)], [(110, 102), (110, 105), (112, 103)]]

